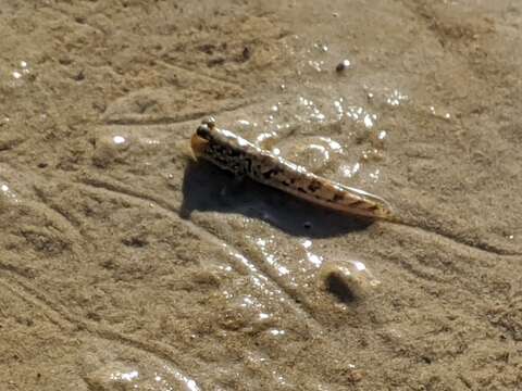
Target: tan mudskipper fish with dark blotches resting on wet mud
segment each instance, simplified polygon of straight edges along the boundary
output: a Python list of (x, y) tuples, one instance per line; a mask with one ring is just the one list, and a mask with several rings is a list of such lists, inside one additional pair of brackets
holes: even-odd
[(396, 218), (383, 198), (315, 175), (231, 130), (217, 128), (213, 119), (198, 126), (190, 147), (196, 160), (203, 159), (238, 177), (249, 177), (312, 204), (364, 218)]

